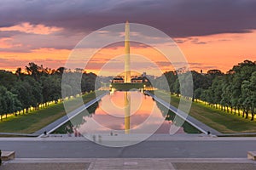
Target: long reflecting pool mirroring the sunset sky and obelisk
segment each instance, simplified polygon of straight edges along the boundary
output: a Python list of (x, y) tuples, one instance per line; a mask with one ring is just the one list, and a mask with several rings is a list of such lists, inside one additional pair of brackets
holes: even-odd
[[(175, 114), (150, 96), (138, 91), (115, 91), (87, 111), (73, 117), (54, 133), (140, 134), (169, 133)], [(177, 133), (201, 133), (188, 122)]]

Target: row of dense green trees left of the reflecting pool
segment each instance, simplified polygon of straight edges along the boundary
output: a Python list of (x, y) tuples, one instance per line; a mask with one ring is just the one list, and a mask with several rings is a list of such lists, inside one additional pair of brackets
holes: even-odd
[[(30, 109), (38, 110), (51, 102), (58, 102), (61, 99), (61, 77), (64, 71), (76, 77), (82, 73), (82, 93), (94, 90), (96, 74), (86, 73), (84, 70), (68, 71), (64, 67), (57, 70), (44, 68), (43, 65), (29, 63), (25, 71), (18, 68), (15, 73), (0, 71), (0, 115), (9, 113), (20, 114)], [(72, 82), (72, 81), (71, 81)], [(64, 85), (67, 88), (66, 96), (79, 94), (72, 88), (72, 84)]]

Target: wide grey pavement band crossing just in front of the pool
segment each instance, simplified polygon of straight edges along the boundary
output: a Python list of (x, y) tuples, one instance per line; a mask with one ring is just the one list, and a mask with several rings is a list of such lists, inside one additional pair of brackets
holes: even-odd
[(2, 150), (17, 158), (246, 158), (256, 138), (155, 135), (127, 147), (107, 147), (84, 138), (2, 138)]

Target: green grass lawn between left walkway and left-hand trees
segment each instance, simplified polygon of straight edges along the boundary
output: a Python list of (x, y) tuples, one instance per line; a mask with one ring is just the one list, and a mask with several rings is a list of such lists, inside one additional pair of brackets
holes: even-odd
[[(94, 92), (84, 94), (84, 103), (95, 99), (95, 97)], [(76, 99), (70, 99), (68, 102), (71, 102), (74, 108), (79, 106), (76, 105)], [(63, 103), (58, 103), (25, 115), (9, 116), (7, 119), (3, 119), (3, 121), (0, 122), (0, 133), (34, 133), (65, 115), (66, 111)]]

